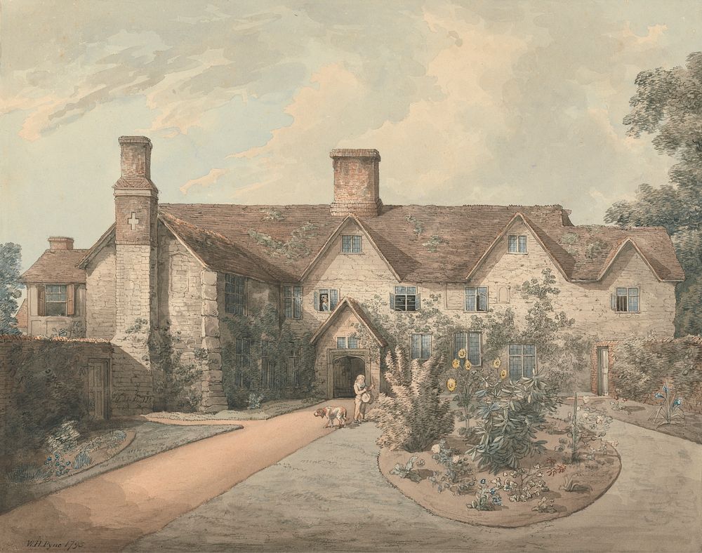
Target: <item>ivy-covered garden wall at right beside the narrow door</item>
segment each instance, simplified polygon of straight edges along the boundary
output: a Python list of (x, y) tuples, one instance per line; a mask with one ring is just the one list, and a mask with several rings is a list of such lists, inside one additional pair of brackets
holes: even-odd
[(685, 411), (702, 413), (702, 337), (628, 339), (593, 345), (592, 383), (597, 390), (597, 346), (609, 346), (609, 394), (656, 404), (665, 382)]

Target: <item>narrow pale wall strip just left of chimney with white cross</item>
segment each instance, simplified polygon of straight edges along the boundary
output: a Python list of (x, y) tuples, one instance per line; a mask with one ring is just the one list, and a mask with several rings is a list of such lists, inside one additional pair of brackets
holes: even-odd
[(86, 267), (86, 336), (110, 340), (115, 332), (114, 243), (95, 255)]

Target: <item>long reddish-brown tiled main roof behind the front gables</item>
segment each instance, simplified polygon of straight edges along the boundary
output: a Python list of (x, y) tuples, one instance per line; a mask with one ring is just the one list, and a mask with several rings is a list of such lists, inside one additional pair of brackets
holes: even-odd
[[(345, 219), (331, 215), (327, 204), (161, 204), (159, 211), (184, 225), (182, 239), (206, 265), (282, 281), (298, 280)], [(361, 221), (403, 281), (461, 282), (517, 214), (568, 279), (599, 279), (627, 237), (659, 279), (684, 279), (662, 227), (575, 227), (561, 206), (383, 206), (380, 215)], [(206, 232), (213, 233), (211, 244), (199, 239)]]

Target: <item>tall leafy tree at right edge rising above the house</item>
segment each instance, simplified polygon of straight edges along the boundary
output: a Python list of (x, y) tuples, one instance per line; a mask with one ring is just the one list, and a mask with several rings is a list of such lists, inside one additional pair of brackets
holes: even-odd
[(673, 156), (670, 184), (641, 185), (634, 201), (618, 201), (605, 220), (625, 226), (663, 226), (687, 279), (676, 288), (677, 335), (702, 334), (702, 52), (685, 67), (642, 71), (624, 117), (628, 134), (655, 135), (658, 152)]

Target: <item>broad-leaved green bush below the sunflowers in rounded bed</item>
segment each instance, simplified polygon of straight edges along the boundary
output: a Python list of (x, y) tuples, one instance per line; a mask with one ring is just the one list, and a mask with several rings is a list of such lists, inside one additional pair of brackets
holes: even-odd
[(547, 380), (537, 374), (516, 382), (486, 382), (476, 397), (480, 441), (468, 453), (480, 470), (497, 474), (505, 467), (517, 469), (522, 459), (545, 451), (545, 441), (536, 439), (536, 432), (557, 406), (555, 388)]

